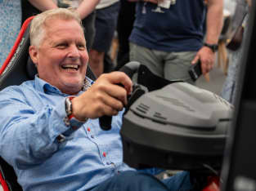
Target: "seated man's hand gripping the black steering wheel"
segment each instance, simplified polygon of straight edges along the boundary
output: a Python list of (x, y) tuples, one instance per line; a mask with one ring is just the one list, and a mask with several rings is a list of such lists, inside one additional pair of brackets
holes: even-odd
[(83, 121), (84, 118), (117, 115), (128, 103), (127, 95), (131, 92), (132, 80), (125, 73), (101, 74), (88, 91), (72, 100), (74, 117)]

